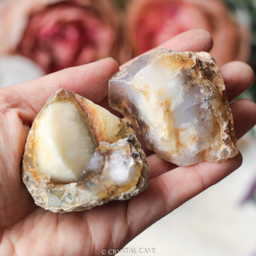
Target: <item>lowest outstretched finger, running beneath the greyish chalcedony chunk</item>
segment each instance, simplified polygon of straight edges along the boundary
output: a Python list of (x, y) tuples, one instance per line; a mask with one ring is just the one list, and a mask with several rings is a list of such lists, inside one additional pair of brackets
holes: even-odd
[(127, 218), (130, 236), (137, 236), (185, 201), (222, 180), (241, 163), (239, 153), (224, 163), (204, 161), (193, 166), (178, 167), (149, 180), (148, 188), (129, 200)]

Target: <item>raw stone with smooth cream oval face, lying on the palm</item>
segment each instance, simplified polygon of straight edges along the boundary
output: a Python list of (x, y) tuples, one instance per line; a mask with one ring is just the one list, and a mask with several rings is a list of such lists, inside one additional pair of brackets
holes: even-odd
[(37, 205), (70, 212), (137, 195), (149, 172), (127, 121), (61, 89), (32, 124), (21, 176)]

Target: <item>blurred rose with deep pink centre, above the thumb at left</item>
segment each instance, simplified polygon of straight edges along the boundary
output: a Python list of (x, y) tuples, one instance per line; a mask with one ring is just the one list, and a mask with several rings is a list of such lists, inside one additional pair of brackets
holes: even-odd
[(118, 14), (108, 0), (9, 0), (0, 48), (37, 62), (46, 73), (112, 56), (118, 59)]

